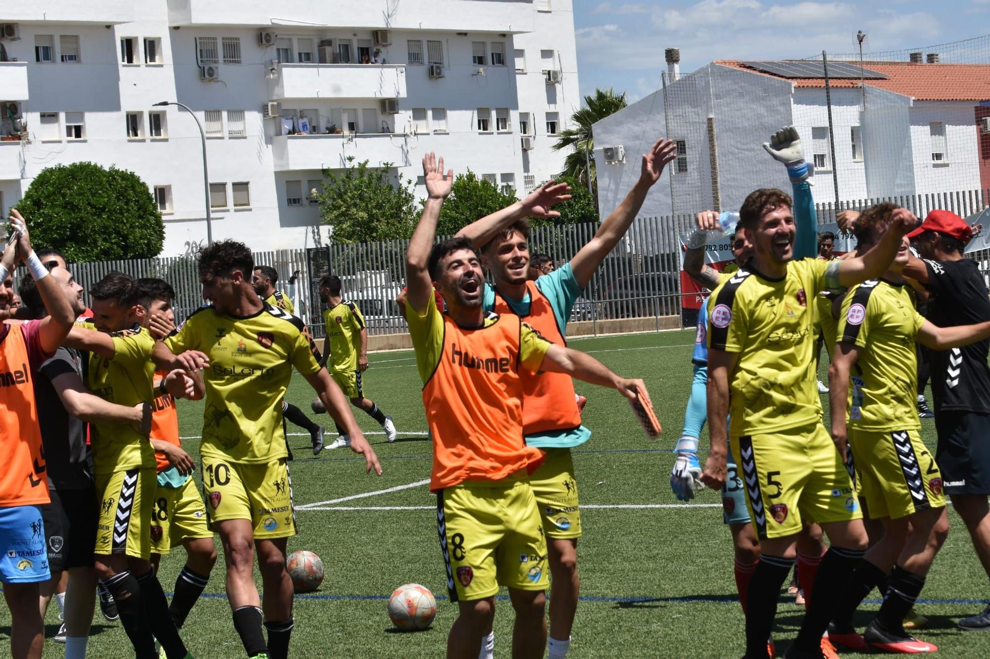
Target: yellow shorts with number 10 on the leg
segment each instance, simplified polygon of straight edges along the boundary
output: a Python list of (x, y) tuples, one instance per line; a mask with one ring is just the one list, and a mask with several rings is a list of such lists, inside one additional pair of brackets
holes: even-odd
[(285, 458), (245, 464), (227, 458), (201, 458), (203, 499), (210, 528), (228, 519), (250, 519), (255, 538), (296, 534), (292, 479)]

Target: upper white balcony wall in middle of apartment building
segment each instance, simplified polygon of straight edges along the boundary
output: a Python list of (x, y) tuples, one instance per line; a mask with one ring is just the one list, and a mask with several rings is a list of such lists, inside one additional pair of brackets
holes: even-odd
[(278, 69), (272, 100), (406, 97), (405, 66), (283, 63)]

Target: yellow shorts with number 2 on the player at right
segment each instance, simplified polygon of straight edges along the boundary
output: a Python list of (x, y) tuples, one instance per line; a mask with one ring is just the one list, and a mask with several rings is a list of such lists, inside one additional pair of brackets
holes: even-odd
[(939, 465), (918, 430), (849, 428), (849, 446), (871, 519), (945, 507)]

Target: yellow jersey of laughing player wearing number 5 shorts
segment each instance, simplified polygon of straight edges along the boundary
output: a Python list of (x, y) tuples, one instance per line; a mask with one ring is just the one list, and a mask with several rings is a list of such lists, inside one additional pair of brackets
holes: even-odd
[(732, 436), (819, 420), (815, 296), (825, 288), (827, 266), (812, 258), (791, 261), (782, 279), (745, 267), (709, 297), (709, 348), (739, 353), (729, 375)]

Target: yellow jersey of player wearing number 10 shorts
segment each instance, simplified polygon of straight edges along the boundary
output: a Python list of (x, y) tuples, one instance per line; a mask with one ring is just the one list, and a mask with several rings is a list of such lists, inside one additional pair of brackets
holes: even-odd
[(212, 306), (193, 312), (165, 344), (175, 353), (202, 350), (203, 455), (261, 464), (288, 455), (282, 398), (293, 366), (303, 375), (320, 370), (320, 351), (295, 316), (270, 305), (247, 318)]

